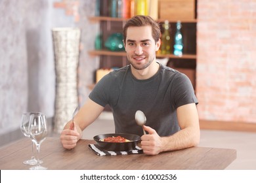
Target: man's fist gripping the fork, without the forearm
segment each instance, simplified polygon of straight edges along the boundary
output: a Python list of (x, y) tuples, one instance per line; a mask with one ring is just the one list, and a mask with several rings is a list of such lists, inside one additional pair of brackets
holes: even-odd
[(64, 129), (60, 134), (60, 141), (62, 146), (66, 149), (72, 149), (76, 146), (79, 140), (79, 133), (75, 127), (75, 123), (71, 122), (68, 129)]

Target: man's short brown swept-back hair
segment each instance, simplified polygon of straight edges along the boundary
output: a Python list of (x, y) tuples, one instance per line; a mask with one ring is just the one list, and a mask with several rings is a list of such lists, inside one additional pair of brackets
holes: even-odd
[(152, 37), (155, 42), (158, 42), (161, 37), (160, 25), (150, 16), (137, 15), (128, 20), (123, 27), (123, 42), (126, 41), (128, 27), (142, 27), (150, 25), (152, 27)]

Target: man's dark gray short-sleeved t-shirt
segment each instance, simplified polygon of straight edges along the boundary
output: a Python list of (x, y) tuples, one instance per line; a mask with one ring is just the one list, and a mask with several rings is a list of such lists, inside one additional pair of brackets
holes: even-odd
[(161, 137), (179, 131), (178, 107), (198, 103), (189, 78), (161, 64), (158, 73), (146, 80), (135, 78), (130, 65), (112, 71), (96, 84), (89, 98), (102, 107), (110, 105), (116, 133), (142, 135), (142, 127), (135, 122), (135, 112), (142, 110), (146, 125)]

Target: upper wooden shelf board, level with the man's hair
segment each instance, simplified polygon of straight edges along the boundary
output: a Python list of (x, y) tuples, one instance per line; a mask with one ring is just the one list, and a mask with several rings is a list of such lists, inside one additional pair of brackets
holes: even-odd
[[(99, 21), (111, 21), (111, 22), (125, 22), (127, 20), (129, 20), (129, 18), (114, 18), (114, 17), (110, 17), (110, 16), (91, 16), (89, 18), (89, 20), (91, 22), (99, 22)], [(157, 20), (157, 22), (164, 22), (164, 19), (159, 19)], [(178, 22), (181, 21), (182, 23), (196, 23), (198, 22), (198, 20), (196, 19), (181, 19), (181, 20), (173, 20), (173, 19), (169, 19), (169, 22)]]

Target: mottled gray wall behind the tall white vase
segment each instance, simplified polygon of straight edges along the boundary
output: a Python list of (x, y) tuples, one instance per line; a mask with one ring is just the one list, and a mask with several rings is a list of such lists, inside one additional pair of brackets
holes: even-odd
[[(90, 57), (98, 33), (91, 23), (94, 1), (79, 1), (79, 21), (54, 8), (54, 0), (0, 0), (0, 135), (19, 128), (21, 114), (41, 111), (54, 115), (55, 71), (51, 29), (80, 27), (79, 105), (89, 95), (88, 85), (98, 58)], [(0, 139), (1, 141), (1, 139)]]

